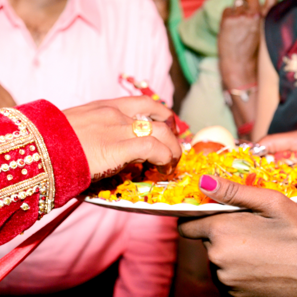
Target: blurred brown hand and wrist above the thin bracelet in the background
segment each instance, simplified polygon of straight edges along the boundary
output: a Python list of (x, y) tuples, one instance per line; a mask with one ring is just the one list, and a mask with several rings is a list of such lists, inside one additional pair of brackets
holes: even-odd
[(224, 10), (218, 34), (219, 64), (226, 89), (257, 81), (260, 19), (277, 1), (266, 0), (263, 6), (258, 0), (244, 3)]

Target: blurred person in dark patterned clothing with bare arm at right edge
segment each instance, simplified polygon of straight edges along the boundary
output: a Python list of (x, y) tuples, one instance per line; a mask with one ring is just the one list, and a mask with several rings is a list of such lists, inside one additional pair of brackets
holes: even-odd
[(296, 2), (284, 0), (265, 19), (253, 139), (297, 129)]

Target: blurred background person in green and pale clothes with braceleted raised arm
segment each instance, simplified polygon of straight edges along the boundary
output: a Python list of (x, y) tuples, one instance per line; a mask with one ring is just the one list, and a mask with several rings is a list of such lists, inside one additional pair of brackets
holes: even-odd
[[(178, 102), (181, 119), (193, 132), (221, 125), (234, 137), (250, 138), (255, 120), (260, 18), (276, 1), (188, 2), (202, 6), (191, 15), (182, 9), (187, 7), (183, 1), (171, 0), (168, 22), (181, 69), (191, 85)], [(247, 77), (243, 78), (243, 73)]]

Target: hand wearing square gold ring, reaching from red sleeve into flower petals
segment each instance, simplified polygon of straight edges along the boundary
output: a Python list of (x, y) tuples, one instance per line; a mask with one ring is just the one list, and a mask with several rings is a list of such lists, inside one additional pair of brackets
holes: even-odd
[[(93, 180), (118, 173), (129, 163), (149, 161), (162, 173), (171, 173), (181, 147), (163, 121), (172, 111), (147, 96), (101, 100), (64, 110), (86, 154)], [(136, 114), (150, 116), (150, 136), (136, 137)]]

